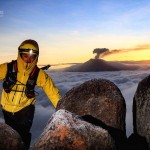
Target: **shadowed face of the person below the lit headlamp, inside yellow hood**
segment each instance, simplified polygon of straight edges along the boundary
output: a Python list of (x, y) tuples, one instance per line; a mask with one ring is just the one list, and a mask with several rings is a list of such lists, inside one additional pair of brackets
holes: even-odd
[(22, 53), (21, 58), (26, 63), (32, 63), (36, 59), (37, 55), (35, 54), (26, 54)]

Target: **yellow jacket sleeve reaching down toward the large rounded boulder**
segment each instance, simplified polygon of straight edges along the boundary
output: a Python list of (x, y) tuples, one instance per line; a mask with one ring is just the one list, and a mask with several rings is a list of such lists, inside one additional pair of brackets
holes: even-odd
[(61, 96), (58, 88), (55, 87), (52, 79), (46, 74), (45, 71), (40, 69), (36, 84), (44, 90), (53, 106), (56, 108)]

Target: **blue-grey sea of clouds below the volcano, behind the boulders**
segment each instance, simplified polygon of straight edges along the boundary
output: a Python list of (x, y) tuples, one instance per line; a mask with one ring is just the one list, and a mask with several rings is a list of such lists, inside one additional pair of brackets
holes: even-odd
[[(132, 126), (132, 102), (138, 83), (149, 75), (150, 70), (136, 71), (105, 71), (105, 72), (64, 72), (62, 70), (47, 70), (49, 76), (53, 79), (55, 85), (59, 88), (63, 96), (71, 88), (78, 86), (91, 79), (108, 79), (115, 83), (121, 90), (126, 101), (126, 132), (129, 136), (133, 132)], [(2, 83), (0, 83), (1, 85)], [(2, 86), (0, 86), (0, 91)], [(37, 96), (35, 117), (32, 132), (32, 144), (40, 136), (51, 115), (55, 112), (54, 107), (45, 95), (42, 89), (36, 88), (39, 93)], [(0, 122), (4, 122), (2, 112), (0, 111)]]

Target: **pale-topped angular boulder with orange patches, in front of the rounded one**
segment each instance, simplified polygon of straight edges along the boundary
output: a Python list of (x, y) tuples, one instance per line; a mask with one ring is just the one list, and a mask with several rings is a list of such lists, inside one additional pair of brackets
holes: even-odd
[(107, 130), (84, 121), (66, 110), (58, 110), (33, 146), (34, 150), (115, 150)]

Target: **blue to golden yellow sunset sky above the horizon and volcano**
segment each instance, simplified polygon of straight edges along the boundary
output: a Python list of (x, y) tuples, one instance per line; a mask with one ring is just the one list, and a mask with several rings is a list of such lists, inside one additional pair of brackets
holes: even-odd
[(149, 60), (149, 18), (149, 0), (1, 0), (0, 63), (26, 39), (39, 43), (39, 64), (82, 63), (95, 48), (110, 50), (105, 60)]

